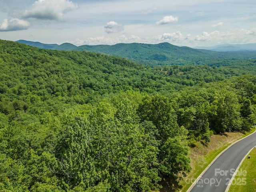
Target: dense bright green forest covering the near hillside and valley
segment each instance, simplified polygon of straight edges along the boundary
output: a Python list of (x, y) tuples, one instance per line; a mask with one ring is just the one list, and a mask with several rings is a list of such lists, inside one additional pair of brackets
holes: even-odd
[(255, 124), (255, 73), (254, 59), (151, 68), (0, 40), (0, 190), (175, 184), (196, 141)]

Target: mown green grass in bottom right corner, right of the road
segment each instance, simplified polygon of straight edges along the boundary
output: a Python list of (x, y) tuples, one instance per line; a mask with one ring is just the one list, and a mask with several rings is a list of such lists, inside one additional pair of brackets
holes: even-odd
[(244, 159), (238, 169), (228, 192), (255, 192), (256, 190), (256, 148), (250, 154), (250, 159)]

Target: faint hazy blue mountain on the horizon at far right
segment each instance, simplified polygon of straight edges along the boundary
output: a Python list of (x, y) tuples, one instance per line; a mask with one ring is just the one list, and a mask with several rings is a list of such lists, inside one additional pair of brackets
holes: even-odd
[(250, 44), (222, 44), (210, 47), (193, 47), (194, 49), (204, 49), (211, 51), (256, 51), (256, 43)]

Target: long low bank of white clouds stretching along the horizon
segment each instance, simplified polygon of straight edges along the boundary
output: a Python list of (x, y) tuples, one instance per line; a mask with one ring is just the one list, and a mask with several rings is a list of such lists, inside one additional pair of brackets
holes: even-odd
[(86, 38), (84, 40), (76, 39), (70, 43), (76, 45), (98, 45), (108, 44), (113, 45), (117, 43), (148, 43), (157, 44), (162, 42), (169, 42), (174, 45), (182, 46), (212, 46), (217, 44), (231, 43), (231, 44), (245, 44), (252, 43), (252, 39), (256, 39), (256, 28), (250, 30), (245, 29), (233, 29), (229, 31), (213, 31), (213, 32), (202, 32), (201, 35), (195, 34), (182, 34), (177, 31), (173, 33), (164, 33), (158, 36), (135, 36), (135, 35), (122, 35), (119, 37), (105, 37), (99, 36), (94, 38)]

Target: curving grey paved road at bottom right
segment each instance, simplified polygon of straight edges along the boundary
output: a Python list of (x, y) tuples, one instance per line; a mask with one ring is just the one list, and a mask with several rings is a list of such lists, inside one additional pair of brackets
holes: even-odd
[[(233, 173), (246, 154), (256, 146), (256, 132), (240, 140), (223, 152), (208, 170), (202, 175), (190, 192), (225, 192)], [(234, 180), (233, 184), (245, 184), (242, 180), (243, 170), (238, 170), (241, 178)]]

